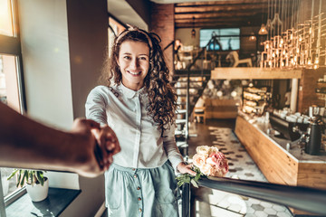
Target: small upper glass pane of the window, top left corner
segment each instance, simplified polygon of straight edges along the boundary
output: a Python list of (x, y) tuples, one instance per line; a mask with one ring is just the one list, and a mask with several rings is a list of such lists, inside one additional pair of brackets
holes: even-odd
[(11, 1), (0, 0), (0, 34), (14, 36)]

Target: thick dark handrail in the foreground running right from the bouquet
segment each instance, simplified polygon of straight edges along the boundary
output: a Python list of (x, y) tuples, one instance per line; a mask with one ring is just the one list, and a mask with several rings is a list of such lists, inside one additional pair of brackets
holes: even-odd
[(199, 179), (198, 184), (228, 193), (283, 204), (306, 212), (326, 215), (326, 190), (322, 189), (217, 177)]

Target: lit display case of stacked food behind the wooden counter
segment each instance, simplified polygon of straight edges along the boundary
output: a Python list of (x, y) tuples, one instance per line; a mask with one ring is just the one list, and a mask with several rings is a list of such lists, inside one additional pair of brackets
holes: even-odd
[(261, 115), (271, 99), (270, 87), (244, 87), (242, 111)]

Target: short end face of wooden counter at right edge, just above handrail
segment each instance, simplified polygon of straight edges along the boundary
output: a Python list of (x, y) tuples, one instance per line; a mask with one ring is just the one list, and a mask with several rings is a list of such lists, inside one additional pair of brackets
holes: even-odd
[(326, 164), (299, 164), (298, 185), (326, 189)]

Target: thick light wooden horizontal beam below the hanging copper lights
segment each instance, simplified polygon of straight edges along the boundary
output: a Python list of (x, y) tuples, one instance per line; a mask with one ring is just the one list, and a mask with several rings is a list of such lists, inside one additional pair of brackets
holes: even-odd
[(211, 72), (211, 79), (213, 80), (283, 80), (301, 78), (302, 70), (220, 67)]

